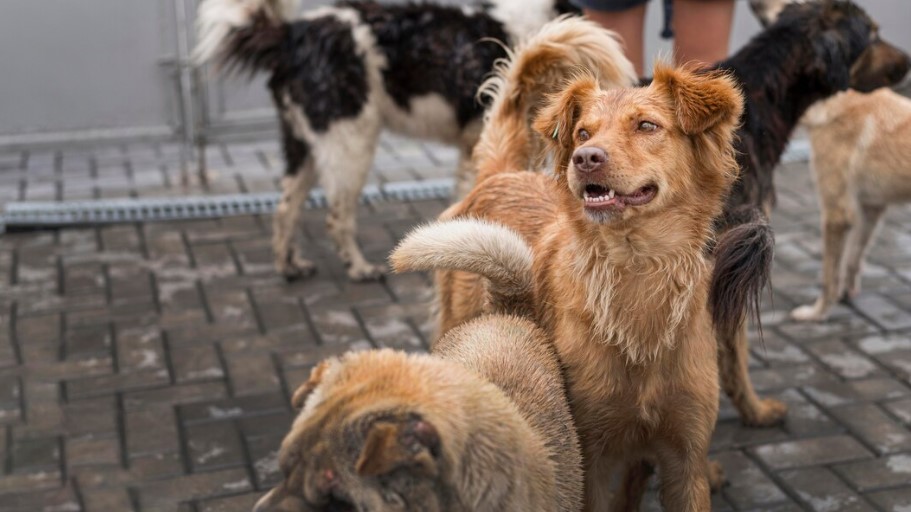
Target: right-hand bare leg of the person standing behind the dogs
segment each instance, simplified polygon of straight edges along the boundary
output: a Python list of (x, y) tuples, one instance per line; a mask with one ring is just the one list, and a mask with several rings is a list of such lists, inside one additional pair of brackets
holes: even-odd
[(734, 0), (674, 0), (677, 64), (714, 64), (728, 56)]

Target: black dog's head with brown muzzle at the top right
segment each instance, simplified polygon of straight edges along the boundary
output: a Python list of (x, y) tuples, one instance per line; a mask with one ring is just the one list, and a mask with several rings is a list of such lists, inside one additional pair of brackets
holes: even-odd
[(772, 27), (805, 34), (803, 43), (815, 53), (814, 69), (835, 90), (892, 86), (911, 67), (908, 55), (884, 41), (876, 22), (853, 2), (753, 0), (751, 5), (763, 23), (774, 20)]

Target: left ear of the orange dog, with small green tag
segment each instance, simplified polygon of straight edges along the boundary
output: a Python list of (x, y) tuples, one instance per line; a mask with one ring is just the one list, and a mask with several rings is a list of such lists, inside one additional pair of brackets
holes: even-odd
[[(557, 152), (558, 165), (565, 165), (573, 147), (573, 128), (579, 121), (585, 105), (593, 101), (599, 91), (598, 81), (591, 75), (572, 79), (566, 87), (548, 98), (538, 112), (534, 129)], [(566, 158), (562, 155), (566, 154)]]

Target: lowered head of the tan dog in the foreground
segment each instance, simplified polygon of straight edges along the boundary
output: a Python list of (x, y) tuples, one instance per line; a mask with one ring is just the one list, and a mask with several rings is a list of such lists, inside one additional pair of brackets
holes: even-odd
[(440, 433), (390, 391), (414, 385), (395, 383), (408, 379), (406, 357), (348, 354), (313, 370), (292, 398), (300, 413), (279, 451), (283, 481), (254, 512), (446, 509)]

